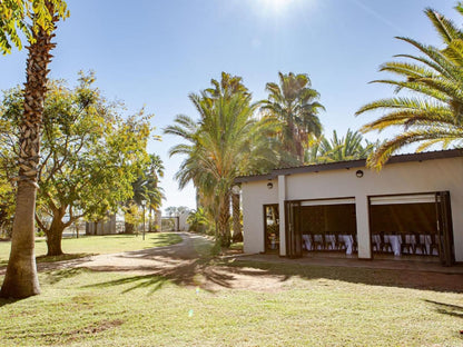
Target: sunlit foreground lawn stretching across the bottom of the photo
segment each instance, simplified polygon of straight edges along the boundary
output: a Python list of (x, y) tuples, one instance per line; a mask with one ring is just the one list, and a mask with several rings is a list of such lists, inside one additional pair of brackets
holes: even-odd
[(41, 295), (0, 300), (1, 346), (463, 346), (461, 294), (363, 268), (232, 269), (249, 267), (285, 275), (284, 286), (206, 291), (151, 275), (40, 274)]

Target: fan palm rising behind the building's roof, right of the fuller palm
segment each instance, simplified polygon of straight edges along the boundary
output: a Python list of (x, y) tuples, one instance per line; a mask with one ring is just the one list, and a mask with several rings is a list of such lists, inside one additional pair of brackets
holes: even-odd
[(316, 100), (318, 92), (311, 88), (307, 75), (284, 75), (278, 72), (279, 86), (267, 83), (268, 100), (263, 101), (262, 110), (280, 122), (279, 138), (284, 147), (298, 162), (304, 161), (304, 147), (308, 136), (319, 136), (322, 125), (318, 119), (319, 110), (324, 107)]

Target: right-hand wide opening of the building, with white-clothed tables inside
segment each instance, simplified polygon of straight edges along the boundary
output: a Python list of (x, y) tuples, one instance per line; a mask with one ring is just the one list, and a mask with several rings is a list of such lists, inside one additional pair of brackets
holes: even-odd
[(454, 262), (449, 191), (370, 197), (373, 255)]

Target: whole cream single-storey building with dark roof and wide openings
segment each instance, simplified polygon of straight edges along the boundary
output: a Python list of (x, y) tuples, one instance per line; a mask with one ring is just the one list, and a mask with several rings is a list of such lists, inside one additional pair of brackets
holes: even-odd
[(244, 250), (463, 261), (463, 149), (239, 177)]

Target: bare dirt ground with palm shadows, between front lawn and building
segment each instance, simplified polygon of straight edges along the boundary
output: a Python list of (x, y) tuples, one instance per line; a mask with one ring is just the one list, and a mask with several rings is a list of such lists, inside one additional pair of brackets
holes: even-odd
[[(188, 232), (183, 242), (159, 248), (99, 255), (75, 260), (38, 264), (39, 271), (87, 268), (134, 275), (121, 279), (139, 286), (156, 286), (169, 280), (206, 290), (224, 288), (279, 291), (293, 286), (294, 278), (336, 279), (404, 288), (463, 293), (463, 267), (443, 268), (437, 264), (339, 258), (286, 259), (254, 255), (211, 257), (211, 241)], [(0, 268), (0, 275), (4, 268)], [(59, 271), (58, 271), (59, 274)], [(57, 275), (58, 275), (57, 274)], [(162, 280), (160, 280), (162, 279)], [(119, 280), (120, 281), (120, 280)], [(116, 282), (100, 286), (118, 285)]]

